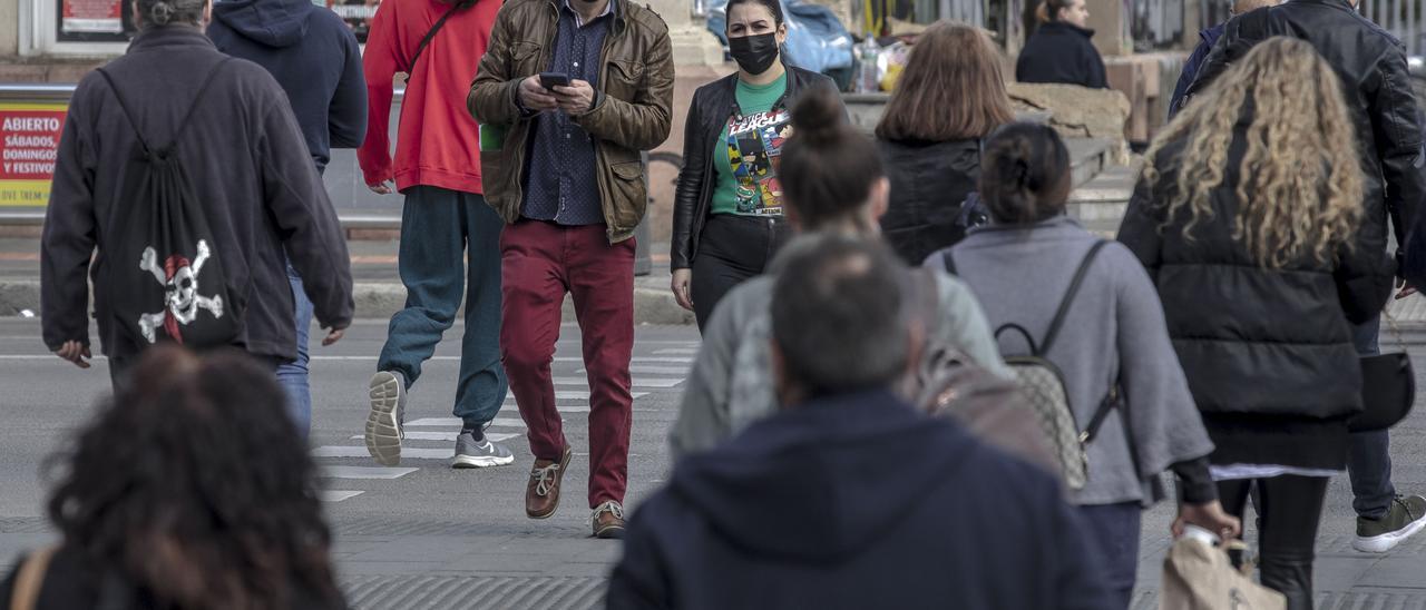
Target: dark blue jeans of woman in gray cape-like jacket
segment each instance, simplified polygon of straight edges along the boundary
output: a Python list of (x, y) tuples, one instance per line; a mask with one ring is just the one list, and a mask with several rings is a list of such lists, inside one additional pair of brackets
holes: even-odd
[(1104, 570), (1114, 609), (1128, 610), (1134, 600), (1134, 580), (1139, 572), (1139, 523), (1144, 507), (1138, 502), (1077, 506), (1089, 557)]

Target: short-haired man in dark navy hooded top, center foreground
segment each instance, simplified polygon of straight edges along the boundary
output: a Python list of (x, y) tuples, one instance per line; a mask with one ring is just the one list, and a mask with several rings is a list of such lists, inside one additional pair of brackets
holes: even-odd
[(781, 410), (642, 505), (607, 607), (1111, 607), (1051, 475), (891, 391), (924, 341), (894, 255), (829, 237), (783, 262)]

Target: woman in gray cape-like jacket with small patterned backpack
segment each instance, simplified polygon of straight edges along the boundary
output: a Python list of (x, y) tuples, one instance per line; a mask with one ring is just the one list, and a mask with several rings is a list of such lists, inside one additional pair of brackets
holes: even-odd
[[(1154, 284), (1127, 248), (1097, 247), (1102, 239), (1064, 215), (1070, 190), (1070, 152), (1052, 128), (1015, 123), (998, 130), (985, 143), (980, 177), (992, 224), (931, 255), (927, 267), (954, 268), (970, 285), (998, 329), (1001, 355), (1038, 355), (1064, 375), (1079, 430), (1091, 428), (1101, 405), (1112, 405), (1085, 445), (1087, 482), (1070, 497), (1101, 542), (1115, 606), (1128, 607), (1139, 513), (1162, 499), (1162, 472), (1174, 469), (1179, 477), (1182, 522), (1233, 534), (1238, 520), (1218, 503), (1206, 460), (1214, 446)], [(1065, 299), (1075, 275), (1082, 279)], [(1062, 302), (1058, 332), (1045, 345)]]

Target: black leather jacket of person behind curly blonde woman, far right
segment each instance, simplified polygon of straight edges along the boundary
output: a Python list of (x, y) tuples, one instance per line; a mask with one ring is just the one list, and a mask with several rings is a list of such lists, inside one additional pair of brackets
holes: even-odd
[(1426, 195), (1422, 125), (1406, 53), (1400, 41), (1358, 14), (1346, 0), (1291, 0), (1228, 21), (1188, 97), (1206, 90), (1253, 44), (1273, 36), (1308, 41), (1342, 77), (1366, 171), (1366, 217), (1359, 245), (1385, 252), (1387, 217), (1396, 242), (1406, 244), (1406, 231)]

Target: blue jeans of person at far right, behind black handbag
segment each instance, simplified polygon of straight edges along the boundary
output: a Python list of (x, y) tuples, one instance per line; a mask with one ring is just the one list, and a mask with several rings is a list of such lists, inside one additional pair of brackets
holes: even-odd
[[(1382, 318), (1352, 326), (1356, 352), (1363, 356), (1382, 353), (1378, 335)], [(1352, 479), (1352, 509), (1368, 519), (1379, 519), (1392, 507), (1396, 486), (1392, 485), (1392, 438), (1387, 430), (1356, 432), (1346, 456), (1346, 472)]]

